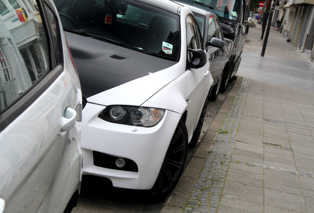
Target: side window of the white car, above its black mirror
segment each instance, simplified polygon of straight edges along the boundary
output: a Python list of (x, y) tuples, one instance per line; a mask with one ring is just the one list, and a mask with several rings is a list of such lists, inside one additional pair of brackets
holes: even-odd
[(187, 45), (190, 49), (202, 49), (201, 36), (196, 24), (196, 19), (188, 15), (186, 19), (187, 26)]

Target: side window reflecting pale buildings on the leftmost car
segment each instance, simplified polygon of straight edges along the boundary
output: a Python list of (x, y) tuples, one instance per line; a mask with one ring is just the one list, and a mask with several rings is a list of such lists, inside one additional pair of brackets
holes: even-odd
[[(56, 18), (47, 15), (50, 23), (47, 28), (47, 22), (36, 0), (28, 0), (27, 5), (26, 1), (19, 1), (20, 7), (17, 9), (16, 3), (16, 0), (0, 0), (1, 114), (9, 108), (15, 110), (14, 104), (29, 94), (28, 92), (35, 90), (39, 82), (57, 66), (57, 61), (62, 57), (62, 51), (59, 50), (59, 53), (57, 51), (60, 49), (58, 45), (61, 42), (58, 41), (59, 35), (51, 33), (58, 32)], [(24, 9), (30, 5), (37, 10), (36, 13)], [(48, 11), (47, 8), (45, 10)], [(8, 17), (6, 14), (9, 12), (11, 14)], [(50, 45), (51, 43), (54, 45)], [(56, 56), (51, 54), (52, 51)], [(32, 94), (34, 93), (30, 96)], [(28, 104), (35, 99), (34, 96), (28, 98)], [(14, 116), (18, 116), (16, 113)]]

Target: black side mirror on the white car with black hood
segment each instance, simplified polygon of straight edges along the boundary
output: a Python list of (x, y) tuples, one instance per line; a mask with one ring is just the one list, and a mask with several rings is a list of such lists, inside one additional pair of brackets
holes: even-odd
[(202, 49), (188, 49), (187, 68), (198, 69), (207, 63), (207, 56)]

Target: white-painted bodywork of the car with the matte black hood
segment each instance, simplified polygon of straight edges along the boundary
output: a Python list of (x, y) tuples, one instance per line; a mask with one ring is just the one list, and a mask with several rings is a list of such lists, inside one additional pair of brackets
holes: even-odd
[[(182, 8), (181, 14), (188, 13), (191, 11), (187, 7)], [(181, 29), (186, 29), (185, 19), (186, 16), (181, 15)], [(213, 79), (205, 69), (209, 67), (208, 60), (203, 68), (185, 70), (186, 39), (186, 32), (182, 32), (181, 40), (184, 42), (181, 45), (180, 61), (174, 66), (87, 99), (82, 126), (83, 175), (109, 178), (115, 187), (151, 189), (174, 130), (186, 110), (186, 126), (189, 141), (191, 140)], [(187, 100), (190, 101), (189, 104)], [(134, 127), (99, 118), (98, 114), (110, 105), (155, 107), (166, 109), (166, 113), (154, 127)], [(119, 171), (95, 166), (92, 151), (131, 159), (139, 171)]]

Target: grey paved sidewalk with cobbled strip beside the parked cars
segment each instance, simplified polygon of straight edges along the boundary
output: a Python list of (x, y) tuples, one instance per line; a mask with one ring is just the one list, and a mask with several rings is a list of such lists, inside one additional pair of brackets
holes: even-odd
[(276, 31), (261, 58), (259, 30), (162, 213), (314, 212), (314, 64)]

